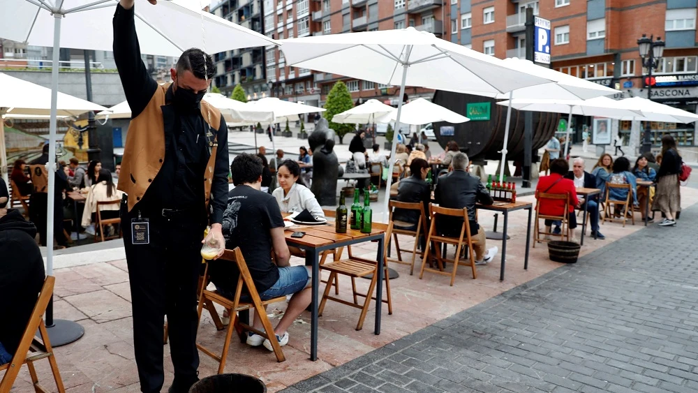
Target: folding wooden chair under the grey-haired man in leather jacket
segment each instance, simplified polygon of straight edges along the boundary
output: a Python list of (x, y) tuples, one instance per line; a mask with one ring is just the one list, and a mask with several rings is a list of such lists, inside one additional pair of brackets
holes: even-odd
[[(470, 237), (470, 221), (468, 219), (468, 208), (463, 207), (463, 209), (448, 209), (446, 207), (438, 207), (429, 204), (429, 214), (431, 215), (431, 225), (429, 226), (429, 236), (426, 237), (426, 247), (424, 250), (425, 255), (431, 255), (429, 253), (429, 247), (433, 244), (435, 247), (445, 246), (446, 244), (452, 244), (456, 246), (456, 253), (454, 259), (447, 259), (445, 256), (441, 255), (438, 251), (436, 254), (436, 262), (438, 264), (438, 269), (431, 267), (426, 267), (426, 262), (429, 258), (422, 258), (422, 269), (419, 271), (419, 279), (421, 280), (424, 276), (424, 272), (433, 272), (436, 274), (442, 274), (443, 276), (451, 276), (451, 286), (453, 286), (456, 281), (456, 270), (458, 265), (470, 266), (473, 269), (473, 279), (477, 279), (477, 271), (475, 270), (475, 253), (473, 252), (473, 244), (477, 244), (477, 240)], [(438, 216), (448, 216), (448, 217), (459, 217), (463, 219), (463, 224), (461, 225), (461, 234), (459, 237), (447, 237), (440, 236), (436, 232), (436, 221), (438, 221)], [(432, 243), (433, 242), (433, 243)], [(470, 263), (461, 262), (461, 249), (463, 246), (468, 247), (468, 255), (470, 257)], [(453, 269), (451, 272), (445, 272), (444, 266), (445, 262), (453, 263)]]

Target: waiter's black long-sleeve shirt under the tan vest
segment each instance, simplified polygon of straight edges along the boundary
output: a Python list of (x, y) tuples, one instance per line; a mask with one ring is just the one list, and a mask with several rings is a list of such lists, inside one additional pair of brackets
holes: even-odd
[[(135, 8), (135, 6), (134, 6)], [(135, 31), (134, 8), (117, 5), (114, 13), (114, 61), (119, 70), (131, 117), (137, 117), (150, 102), (158, 84), (143, 64)], [(202, 209), (204, 173), (209, 160), (209, 131), (200, 110), (182, 111), (172, 105), (172, 86), (165, 94), (165, 159), (140, 204), (142, 209)], [(212, 125), (216, 126), (216, 125)], [(228, 127), (221, 117), (218, 149), (211, 185), (211, 223), (222, 223), (228, 202)], [(160, 132), (149, 130), (149, 132)], [(213, 129), (211, 132), (216, 133)], [(138, 170), (138, 168), (135, 168)]]

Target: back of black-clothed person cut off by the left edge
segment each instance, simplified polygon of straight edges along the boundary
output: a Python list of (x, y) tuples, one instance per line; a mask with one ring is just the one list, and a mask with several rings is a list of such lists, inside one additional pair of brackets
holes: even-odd
[(12, 294), (12, 301), (2, 302), (0, 315), (0, 364), (9, 361), (17, 350), (27, 327), (36, 297), (45, 278), (43, 258), (34, 237), (36, 227), (24, 220), (17, 209), (0, 209), (0, 290)]

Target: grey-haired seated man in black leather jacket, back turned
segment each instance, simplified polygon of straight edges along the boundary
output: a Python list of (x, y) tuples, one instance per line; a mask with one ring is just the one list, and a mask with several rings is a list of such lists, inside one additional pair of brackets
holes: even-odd
[[(498, 248), (485, 249), (484, 229), (475, 221), (475, 203), (491, 205), (494, 200), (479, 177), (468, 173), (468, 156), (465, 153), (456, 153), (451, 161), (453, 168), (448, 175), (439, 177), (434, 191), (434, 199), (440, 207), (450, 209), (468, 208), (468, 221), (470, 221), (470, 236), (477, 240), (473, 244), (475, 251), (475, 264), (485, 265), (494, 258)], [(438, 218), (437, 230), (443, 236), (459, 237), (463, 220), (457, 217), (443, 216)]]

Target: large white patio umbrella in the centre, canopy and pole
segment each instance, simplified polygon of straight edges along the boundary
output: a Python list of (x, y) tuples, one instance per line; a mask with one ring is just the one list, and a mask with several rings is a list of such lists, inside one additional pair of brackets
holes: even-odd
[[(550, 80), (514, 70), (500, 59), (436, 38), (413, 27), (282, 40), (290, 66), (400, 87), (400, 129), (405, 86), (496, 94)], [(395, 133), (390, 171), (395, 161)], [(392, 177), (388, 177), (387, 189)], [(385, 212), (388, 210), (385, 198)]]

